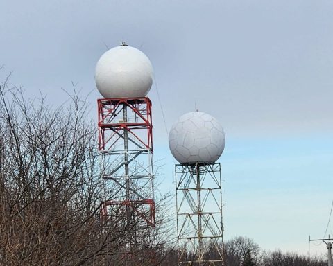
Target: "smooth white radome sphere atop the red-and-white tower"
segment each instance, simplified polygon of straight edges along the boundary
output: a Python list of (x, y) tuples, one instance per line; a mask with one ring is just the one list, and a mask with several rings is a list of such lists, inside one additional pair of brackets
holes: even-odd
[(117, 46), (97, 62), (95, 81), (104, 98), (144, 97), (153, 84), (153, 67), (137, 48)]

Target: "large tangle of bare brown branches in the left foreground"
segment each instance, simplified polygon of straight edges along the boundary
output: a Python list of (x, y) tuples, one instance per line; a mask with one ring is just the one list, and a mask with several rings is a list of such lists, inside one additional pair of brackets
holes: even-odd
[[(0, 265), (126, 263), (121, 250), (138, 221), (120, 227), (120, 206), (100, 220), (101, 200), (117, 200), (117, 189), (101, 190), (94, 123), (75, 90), (70, 100), (52, 107), (8, 80), (0, 87)], [(162, 221), (146, 231), (133, 265), (164, 258)]]

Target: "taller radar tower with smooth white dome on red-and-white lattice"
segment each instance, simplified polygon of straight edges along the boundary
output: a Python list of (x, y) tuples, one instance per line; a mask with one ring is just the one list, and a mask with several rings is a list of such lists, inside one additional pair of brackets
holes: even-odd
[(96, 86), (104, 97), (97, 100), (101, 175), (105, 190), (112, 190), (105, 192), (101, 220), (116, 220), (120, 230), (130, 227), (126, 237), (136, 243), (140, 232), (147, 237), (155, 227), (153, 124), (146, 97), (152, 77), (148, 57), (126, 44), (104, 53), (96, 65)]

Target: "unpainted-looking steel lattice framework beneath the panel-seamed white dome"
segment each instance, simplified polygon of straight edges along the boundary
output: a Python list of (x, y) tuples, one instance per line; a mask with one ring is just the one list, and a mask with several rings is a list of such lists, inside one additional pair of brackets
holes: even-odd
[(224, 265), (220, 163), (176, 164), (178, 265)]

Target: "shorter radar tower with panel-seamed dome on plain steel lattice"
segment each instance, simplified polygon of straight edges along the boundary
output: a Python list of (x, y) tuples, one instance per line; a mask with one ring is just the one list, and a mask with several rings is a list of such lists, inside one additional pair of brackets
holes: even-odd
[(223, 128), (203, 112), (178, 118), (169, 134), (175, 165), (178, 265), (224, 265)]

